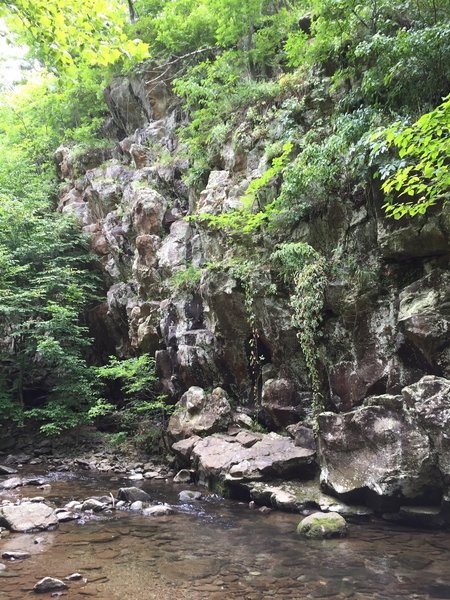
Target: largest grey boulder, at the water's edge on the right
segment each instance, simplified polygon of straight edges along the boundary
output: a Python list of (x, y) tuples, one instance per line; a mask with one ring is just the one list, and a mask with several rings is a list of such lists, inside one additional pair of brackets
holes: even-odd
[(323, 413), (322, 484), (382, 510), (402, 499), (437, 502), (450, 478), (449, 425), (450, 381), (435, 376), (348, 413)]

